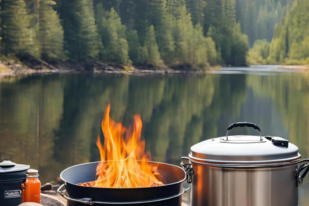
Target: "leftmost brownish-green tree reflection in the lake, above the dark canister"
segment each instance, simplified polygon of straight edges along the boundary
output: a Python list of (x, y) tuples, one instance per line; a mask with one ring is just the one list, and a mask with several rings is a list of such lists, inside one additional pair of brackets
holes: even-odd
[(52, 179), (57, 168), (53, 129), (58, 128), (63, 104), (62, 78), (42, 77), (1, 83), (0, 159), (40, 168)]

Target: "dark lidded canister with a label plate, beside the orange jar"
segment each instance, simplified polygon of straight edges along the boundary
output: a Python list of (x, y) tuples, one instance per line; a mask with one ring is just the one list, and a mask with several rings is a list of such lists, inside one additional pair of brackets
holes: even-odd
[(22, 204), (21, 184), (27, 179), (29, 165), (21, 165), (5, 160), (0, 163), (0, 205), (18, 206)]

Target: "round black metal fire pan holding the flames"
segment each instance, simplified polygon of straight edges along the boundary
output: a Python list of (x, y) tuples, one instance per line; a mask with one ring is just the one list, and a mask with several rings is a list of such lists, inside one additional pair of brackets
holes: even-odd
[[(95, 181), (96, 167), (99, 162), (91, 162), (72, 166), (62, 171), (60, 178), (65, 182), (58, 188), (58, 193), (67, 199), (68, 206), (88, 205), (181, 205), (181, 195), (188, 189), (183, 188), (187, 179), (185, 168), (175, 165), (157, 164), (160, 176), (157, 178), (164, 184), (158, 187), (140, 188), (101, 188), (79, 186), (78, 183)], [(61, 191), (65, 186), (66, 190)]]

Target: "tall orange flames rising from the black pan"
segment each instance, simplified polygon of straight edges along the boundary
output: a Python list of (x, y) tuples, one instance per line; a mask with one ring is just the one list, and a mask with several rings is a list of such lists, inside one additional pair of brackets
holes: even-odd
[[(104, 146), (97, 138), (101, 161), (97, 166), (97, 179), (93, 187), (133, 188), (150, 187), (162, 183), (155, 177), (156, 167), (150, 165), (150, 152), (145, 151), (145, 141), (140, 140), (142, 120), (134, 115), (133, 124), (126, 129), (109, 116), (108, 103), (102, 120)], [(123, 135), (126, 133), (125, 140)], [(139, 161), (138, 161), (139, 160)]]

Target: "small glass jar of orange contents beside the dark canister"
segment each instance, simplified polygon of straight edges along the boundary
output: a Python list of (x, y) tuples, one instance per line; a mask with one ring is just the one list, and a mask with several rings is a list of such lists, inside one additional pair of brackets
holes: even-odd
[(27, 180), (22, 185), (22, 198), (24, 202), (41, 203), (41, 182), (37, 170), (27, 170)]

